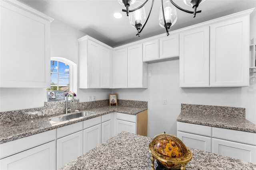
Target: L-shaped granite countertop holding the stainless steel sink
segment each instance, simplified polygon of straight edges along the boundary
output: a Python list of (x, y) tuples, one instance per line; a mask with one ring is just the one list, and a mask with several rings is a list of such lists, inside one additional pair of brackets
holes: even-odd
[[(72, 119), (72, 120), (64, 121), (60, 123), (51, 124), (51, 122), (49, 121), (49, 118), (58, 117), (66, 114), (60, 114), (58, 116), (52, 115), (52, 116), (38, 118), (38, 119), (8, 123), (8, 124), (0, 125), (0, 129), (1, 129), (0, 144), (13, 141), (16, 139), (20, 139), (23, 137), (27, 137), (30, 135), (35, 135), (37, 133), (49, 131), (52, 129), (56, 129), (58, 127), (70, 125), (73, 123), (77, 123), (80, 121), (84, 121), (87, 119), (91, 119), (91, 118), (98, 117), (98, 116), (105, 115), (112, 112), (120, 112), (120, 113), (126, 113), (130, 115), (136, 115), (137, 113), (140, 113), (144, 110), (147, 110), (147, 108), (129, 107), (129, 106), (102, 106), (102, 107), (95, 107), (95, 108), (83, 110), (83, 111), (92, 112), (93, 113), (92, 115), (80, 117), (80, 118), (76, 118), (76, 119)], [(68, 114), (72, 114), (72, 113), (68, 113)]]

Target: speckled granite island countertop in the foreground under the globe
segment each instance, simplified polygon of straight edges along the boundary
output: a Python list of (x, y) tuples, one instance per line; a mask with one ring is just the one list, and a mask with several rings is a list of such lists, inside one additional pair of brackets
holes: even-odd
[[(148, 144), (151, 140), (149, 137), (121, 132), (60, 170), (150, 170)], [(250, 162), (197, 149), (191, 151), (192, 160), (186, 165), (186, 170), (256, 170), (256, 165)]]

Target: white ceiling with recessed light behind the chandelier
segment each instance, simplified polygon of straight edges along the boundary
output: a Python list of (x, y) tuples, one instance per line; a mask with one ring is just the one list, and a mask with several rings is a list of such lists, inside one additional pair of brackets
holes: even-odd
[[(140, 37), (136, 36), (137, 30), (130, 25), (129, 18), (122, 12), (124, 6), (121, 6), (117, 0), (21, 1), (111, 47), (165, 33), (165, 29), (158, 24), (160, 0), (155, 0), (148, 23)], [(182, 8), (192, 10), (191, 7), (183, 3), (183, 0), (174, 0), (174, 2)], [(146, 14), (148, 14), (150, 6), (151, 0), (145, 6)], [(193, 18), (192, 14), (177, 9), (178, 20), (170, 28), (170, 31), (255, 7), (256, 0), (206, 0), (198, 7), (198, 10), (202, 10), (202, 12), (196, 14), (196, 18)], [(121, 12), (122, 18), (114, 18), (114, 12)]]

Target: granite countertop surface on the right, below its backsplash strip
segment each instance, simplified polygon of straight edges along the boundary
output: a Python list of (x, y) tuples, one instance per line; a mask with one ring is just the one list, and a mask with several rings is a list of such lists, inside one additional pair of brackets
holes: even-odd
[(228, 117), (182, 111), (177, 121), (256, 133), (256, 125), (242, 117)]

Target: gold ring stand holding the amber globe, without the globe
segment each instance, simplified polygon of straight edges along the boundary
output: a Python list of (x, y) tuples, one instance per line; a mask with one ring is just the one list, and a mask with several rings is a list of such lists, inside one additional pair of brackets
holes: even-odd
[[(159, 139), (170, 139), (174, 141), (175, 143), (178, 143), (182, 150), (182, 156), (180, 157), (172, 157), (172, 156), (165, 156), (155, 149), (155, 145), (157, 144), (157, 141)], [(168, 134), (168, 133), (161, 133), (159, 135), (156, 135), (150, 144), (148, 145), (148, 149), (151, 153), (151, 169), (155, 170), (154, 168), (154, 160), (162, 166), (168, 168), (168, 170), (185, 170), (186, 164), (192, 159), (192, 152), (191, 150), (184, 145), (184, 143), (176, 136)]]

